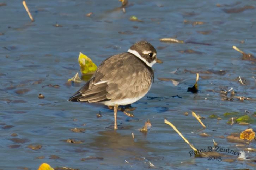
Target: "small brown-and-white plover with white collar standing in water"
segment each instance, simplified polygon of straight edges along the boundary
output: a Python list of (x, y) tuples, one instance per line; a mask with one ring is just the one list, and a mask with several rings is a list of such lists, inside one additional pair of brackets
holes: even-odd
[(156, 55), (156, 49), (147, 41), (133, 44), (127, 52), (103, 60), (91, 79), (68, 101), (98, 102), (113, 108), (114, 130), (117, 130), (118, 106), (132, 104), (150, 90), (154, 81), (152, 66), (163, 63)]

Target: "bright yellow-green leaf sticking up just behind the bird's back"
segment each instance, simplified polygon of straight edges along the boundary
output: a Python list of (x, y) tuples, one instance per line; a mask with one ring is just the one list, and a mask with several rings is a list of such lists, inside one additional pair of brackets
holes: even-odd
[(97, 69), (97, 66), (92, 62), (92, 60), (81, 52), (79, 54), (78, 62), (82, 74), (92, 73)]

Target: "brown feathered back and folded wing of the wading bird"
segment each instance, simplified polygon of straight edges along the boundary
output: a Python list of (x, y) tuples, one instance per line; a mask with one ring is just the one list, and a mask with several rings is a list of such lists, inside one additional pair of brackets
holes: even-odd
[(133, 54), (113, 55), (99, 65), (92, 78), (69, 101), (103, 102), (144, 96), (153, 78), (152, 69)]

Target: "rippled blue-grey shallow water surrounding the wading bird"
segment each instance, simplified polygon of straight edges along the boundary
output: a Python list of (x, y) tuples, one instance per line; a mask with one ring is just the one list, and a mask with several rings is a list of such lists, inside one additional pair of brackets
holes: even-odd
[[(157, 169), (254, 169), (254, 166), (247, 164), (248, 161), (237, 161), (237, 157), (231, 154), (228, 157), (234, 159), (231, 163), (190, 156), (192, 149), (164, 123), (164, 119), (174, 124), (197, 149), (213, 146), (214, 139), (218, 146), (240, 151), (235, 146), (237, 143), (216, 136), (227, 137), (247, 128), (255, 130), (255, 122), (247, 126), (231, 126), (226, 124), (228, 118), (223, 116), (225, 112), (243, 115), (247, 110), (253, 113), (255, 101), (223, 101), (219, 91), (233, 87), (238, 96), (256, 98), (252, 78), (255, 64), (242, 60), (242, 54), (232, 49), (235, 45), (246, 53), (256, 54), (255, 9), (240, 13), (225, 13), (223, 9), (255, 5), (255, 2), (248, 0), (236, 4), (226, 0), (222, 2), (222, 7), (217, 7), (216, 1), (130, 2), (133, 5), (127, 7), (123, 14), (118, 8), (121, 2), (117, 0), (28, 1), (35, 19), (32, 23), (21, 2), (7, 1), (6, 6), (0, 6), (0, 15), (4, 16), (0, 18), (0, 33), (4, 33), (0, 35), (0, 169), (27, 167), (32, 170), (43, 162), (52, 167), (80, 169), (148, 169), (149, 162)], [(91, 17), (86, 17), (90, 12), (93, 12)], [(144, 22), (129, 21), (132, 15)], [(204, 24), (184, 24), (185, 19)], [(54, 26), (56, 23), (62, 27)], [(211, 32), (203, 35), (197, 31)], [(174, 36), (185, 42), (211, 45), (159, 41)], [(125, 52), (140, 40), (154, 45), (158, 58), (164, 63), (153, 66), (155, 81), (150, 92), (132, 104), (132, 107), (137, 107), (132, 111), (134, 118), (118, 112), (119, 129), (114, 132), (112, 110), (97, 104), (67, 102), (79, 89), (64, 85), (79, 72), (79, 52), (99, 65), (106, 57)], [(240, 43), (242, 40), (244, 43)], [(201, 54), (179, 52), (187, 49)], [(173, 74), (176, 69), (178, 71)], [(187, 92), (187, 88), (193, 86), (196, 75), (184, 72), (184, 69), (197, 72), (227, 70), (227, 73), (200, 73), (199, 93), (192, 94)], [(238, 76), (245, 78), (249, 85), (233, 81)], [(160, 81), (158, 78), (179, 79), (180, 84), (175, 86), (171, 81)], [(49, 87), (49, 84), (60, 87)], [(20, 89), (27, 90), (20, 92)], [(45, 96), (44, 99), (38, 98), (40, 93)], [(103, 116), (96, 118), (99, 111)], [(206, 118), (202, 120), (206, 129), (202, 130), (202, 126), (191, 116), (191, 111)], [(185, 112), (189, 116), (184, 116)], [(223, 120), (208, 118), (212, 114)], [(152, 128), (145, 136), (139, 130), (148, 119)], [(6, 125), (13, 127), (6, 128)], [(70, 129), (75, 127), (86, 130), (74, 133)], [(210, 137), (198, 135), (203, 132)], [(12, 133), (18, 136), (13, 137)], [(62, 141), (69, 138), (84, 142), (73, 144)], [(256, 148), (253, 141), (249, 147)], [(41, 145), (42, 148), (32, 150), (29, 145)], [(59, 158), (50, 159), (51, 155)], [(36, 159), (41, 156), (44, 158)], [(81, 161), (90, 156), (95, 159)]]

